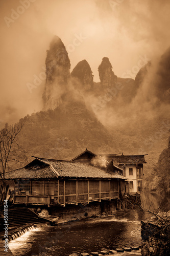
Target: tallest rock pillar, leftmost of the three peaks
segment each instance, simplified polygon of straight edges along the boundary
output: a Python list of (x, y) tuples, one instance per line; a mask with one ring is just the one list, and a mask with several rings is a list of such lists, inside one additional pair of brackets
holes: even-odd
[(61, 39), (55, 36), (46, 54), (46, 83), (43, 93), (44, 110), (55, 109), (61, 103), (70, 76), (70, 60)]

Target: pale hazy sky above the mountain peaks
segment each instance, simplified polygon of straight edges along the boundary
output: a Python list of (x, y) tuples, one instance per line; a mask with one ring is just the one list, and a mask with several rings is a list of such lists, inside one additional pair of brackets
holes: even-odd
[(44, 79), (32, 93), (27, 83), (43, 72), (54, 35), (69, 52), (71, 70), (86, 59), (99, 81), (105, 56), (121, 77), (141, 57), (170, 46), (169, 10), (168, 0), (1, 0), (0, 125), (41, 110)]

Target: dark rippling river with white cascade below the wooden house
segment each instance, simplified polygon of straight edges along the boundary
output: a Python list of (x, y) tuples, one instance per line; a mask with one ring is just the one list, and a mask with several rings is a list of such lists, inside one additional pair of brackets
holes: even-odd
[(58, 226), (35, 228), (11, 241), (14, 255), (58, 255), (100, 251), (140, 245), (140, 220), (137, 210), (118, 212), (116, 217), (89, 219)]

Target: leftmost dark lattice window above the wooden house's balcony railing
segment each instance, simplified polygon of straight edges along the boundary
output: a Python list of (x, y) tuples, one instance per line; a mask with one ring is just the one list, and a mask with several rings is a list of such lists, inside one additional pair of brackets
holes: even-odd
[(30, 195), (31, 182), (30, 180), (15, 181), (15, 195)]

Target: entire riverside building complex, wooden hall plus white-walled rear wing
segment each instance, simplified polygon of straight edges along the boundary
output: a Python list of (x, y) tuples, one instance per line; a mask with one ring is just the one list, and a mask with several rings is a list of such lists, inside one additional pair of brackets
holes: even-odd
[(123, 199), (142, 190), (144, 155), (95, 155), (84, 151), (70, 161), (35, 159), (6, 173), (13, 204), (65, 206)]

